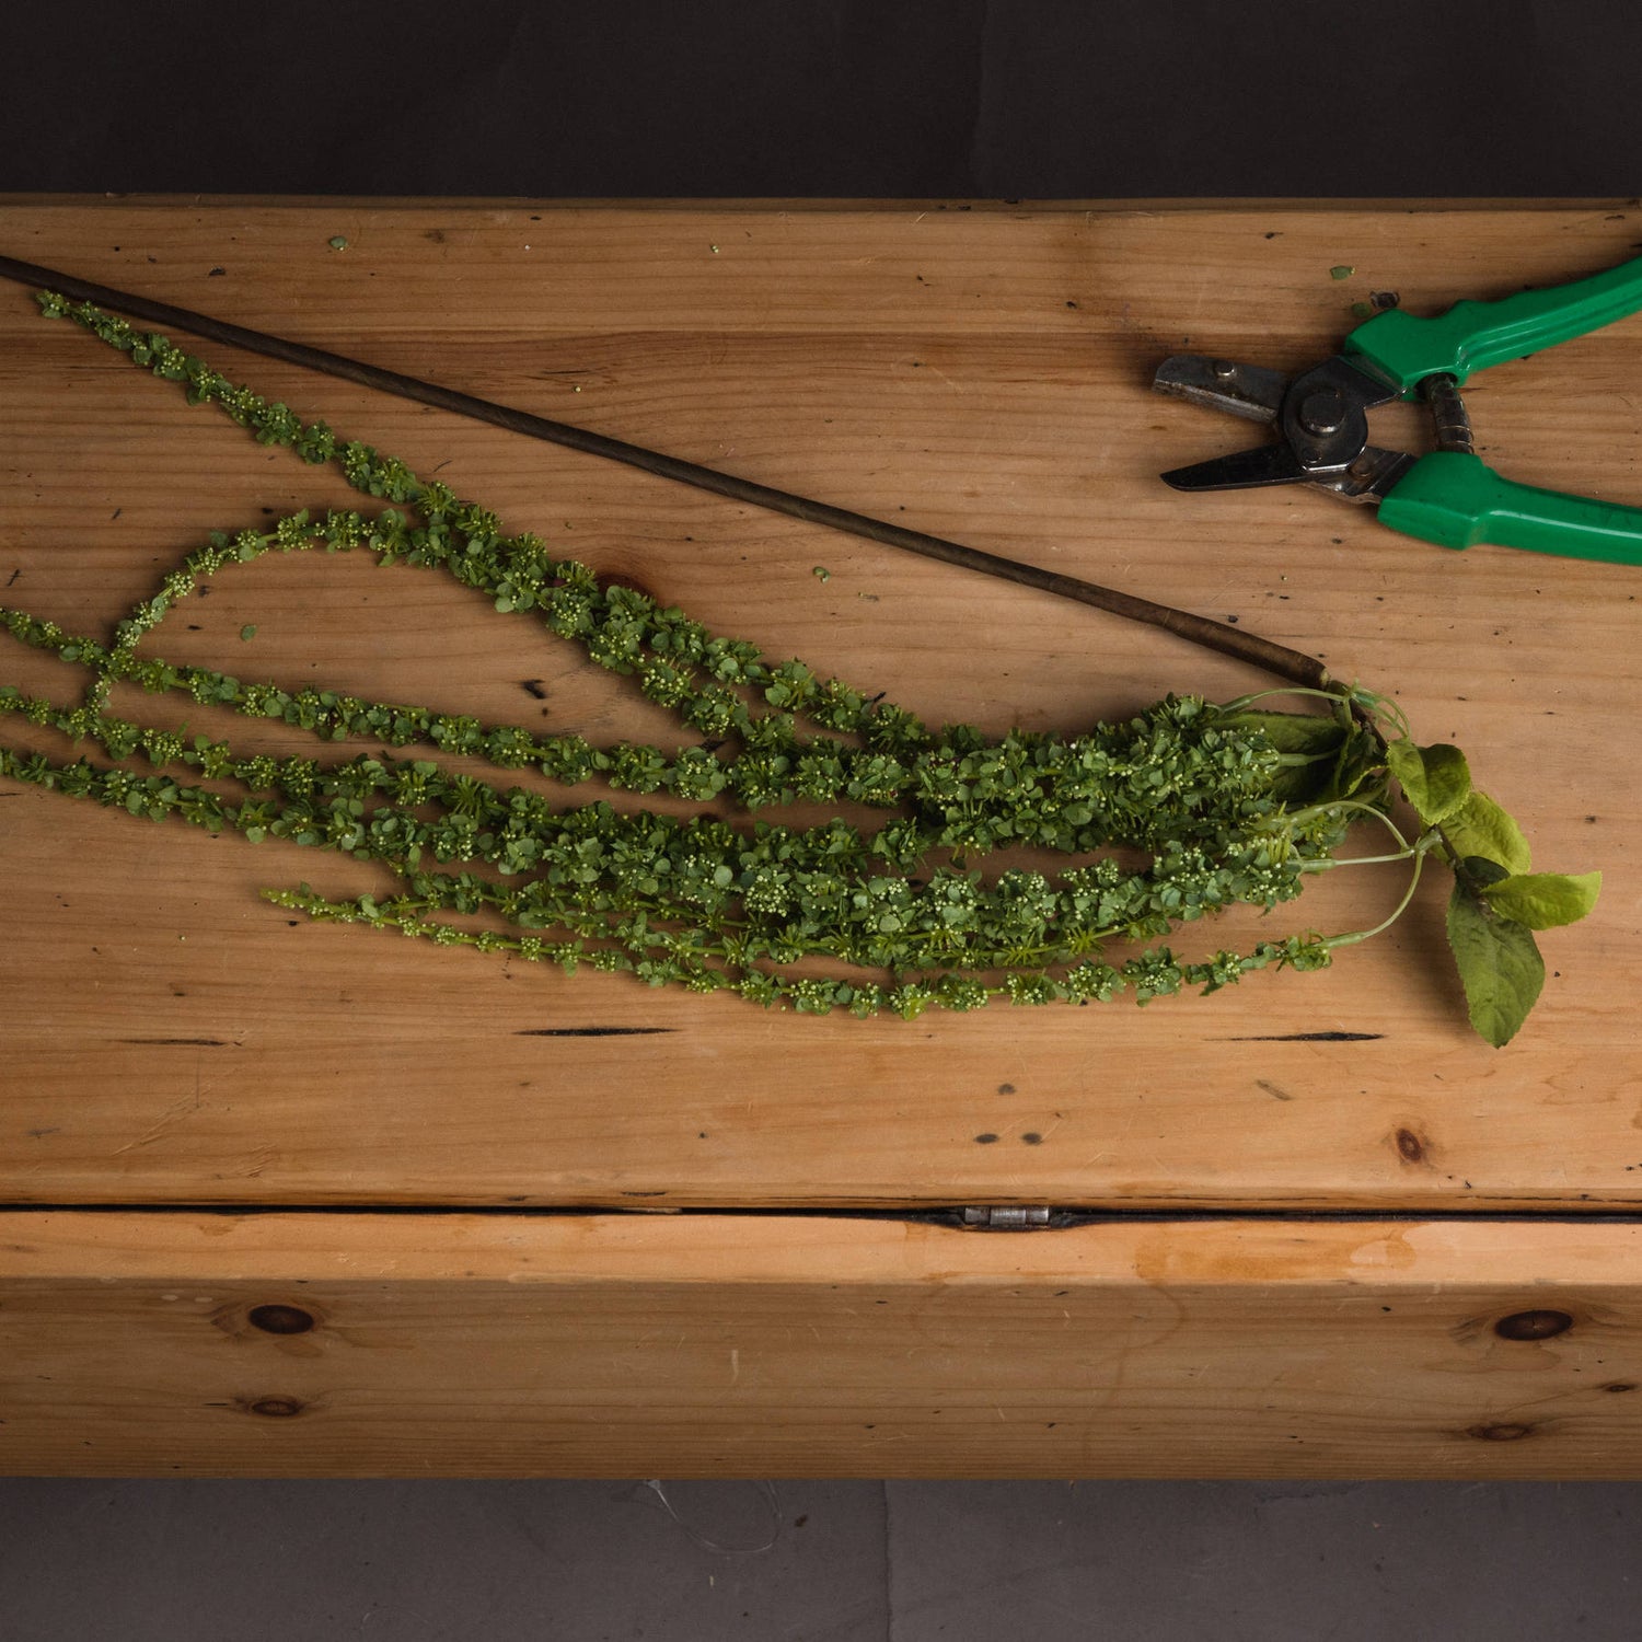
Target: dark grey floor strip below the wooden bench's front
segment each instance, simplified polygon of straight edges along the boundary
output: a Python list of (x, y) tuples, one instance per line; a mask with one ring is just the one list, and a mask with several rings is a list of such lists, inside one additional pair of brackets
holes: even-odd
[(0, 1479), (3, 1642), (1635, 1642), (1642, 1483)]

